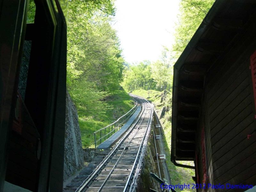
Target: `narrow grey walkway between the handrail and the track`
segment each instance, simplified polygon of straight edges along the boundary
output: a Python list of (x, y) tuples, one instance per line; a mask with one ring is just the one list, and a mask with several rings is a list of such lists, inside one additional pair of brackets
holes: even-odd
[(119, 129), (117, 132), (115, 132), (111, 137), (109, 137), (107, 140), (102, 142), (97, 149), (110, 149), (123, 135), (124, 133), (131, 127), (132, 123), (136, 119), (136, 117), (139, 115), (141, 110), (141, 106), (138, 106), (135, 113), (132, 115), (132, 117), (127, 121), (126, 124), (124, 124), (121, 129)]

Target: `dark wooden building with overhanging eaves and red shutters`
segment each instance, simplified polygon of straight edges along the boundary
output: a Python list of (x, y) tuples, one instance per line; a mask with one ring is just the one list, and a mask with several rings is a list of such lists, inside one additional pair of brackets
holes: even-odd
[(256, 185), (255, 108), (256, 1), (216, 0), (174, 65), (171, 161), (224, 185), (197, 191)]

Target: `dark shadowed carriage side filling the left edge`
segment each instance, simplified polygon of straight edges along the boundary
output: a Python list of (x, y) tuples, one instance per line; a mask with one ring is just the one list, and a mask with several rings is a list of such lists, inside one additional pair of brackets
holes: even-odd
[(0, 0), (1, 192), (62, 191), (67, 0), (34, 2)]

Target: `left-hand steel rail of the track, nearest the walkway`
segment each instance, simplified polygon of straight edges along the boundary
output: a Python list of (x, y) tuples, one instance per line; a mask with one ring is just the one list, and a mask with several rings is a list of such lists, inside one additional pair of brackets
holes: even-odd
[[(140, 100), (140, 99), (139, 99)], [(92, 178), (95, 177), (96, 173), (101, 171), (100, 169), (103, 167), (103, 165), (109, 160), (109, 158), (113, 155), (113, 153), (116, 151), (116, 149), (119, 147), (119, 145), (124, 141), (124, 139), (126, 139), (126, 137), (130, 134), (130, 132), (132, 132), (134, 126), (139, 122), (140, 117), (143, 115), (144, 112), (144, 101), (140, 100), (141, 104), (143, 105), (143, 110), (140, 114), (140, 116), (138, 117), (137, 121), (132, 125), (131, 129), (128, 130), (128, 132), (117, 142), (116, 146), (109, 152), (109, 154), (105, 157), (105, 160), (102, 161), (96, 168), (95, 170), (86, 178), (86, 180), (84, 180), (84, 182), (76, 189), (75, 192), (82, 192), (85, 191), (89, 182), (93, 181)], [(105, 165), (104, 165), (105, 166)]]

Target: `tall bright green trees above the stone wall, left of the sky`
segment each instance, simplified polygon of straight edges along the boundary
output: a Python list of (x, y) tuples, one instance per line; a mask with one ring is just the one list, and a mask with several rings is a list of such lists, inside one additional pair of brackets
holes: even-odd
[(67, 88), (81, 118), (111, 109), (105, 98), (123, 79), (114, 15), (112, 0), (68, 2)]

